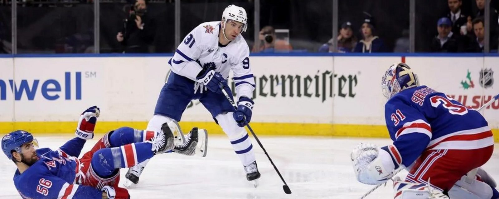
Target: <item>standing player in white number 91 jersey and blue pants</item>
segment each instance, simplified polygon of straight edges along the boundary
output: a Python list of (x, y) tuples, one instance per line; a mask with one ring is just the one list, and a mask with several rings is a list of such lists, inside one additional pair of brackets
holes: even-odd
[[(244, 166), (247, 180), (253, 181), (260, 177), (260, 173), (248, 132), (244, 128), (251, 119), (254, 102), (250, 97), (255, 86), (250, 69), (250, 49), (241, 35), (247, 27), (246, 10), (229, 5), (221, 21), (202, 23), (184, 38), (168, 62), (172, 72), (160, 92), (147, 130), (159, 130), (165, 122), (180, 121), (188, 103), (199, 99), (228, 135)], [(220, 84), (224, 85), (225, 90), (233, 96), (227, 85), (231, 70), (236, 83), (236, 111), (219, 87)], [(125, 186), (138, 183), (147, 162), (129, 169)]]

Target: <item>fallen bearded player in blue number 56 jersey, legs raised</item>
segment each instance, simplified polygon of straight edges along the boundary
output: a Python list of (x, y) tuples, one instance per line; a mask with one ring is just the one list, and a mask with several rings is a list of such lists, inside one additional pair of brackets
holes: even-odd
[(99, 114), (96, 106), (86, 109), (80, 116), (76, 138), (55, 151), (36, 149), (36, 139), (23, 130), (3, 136), (1, 148), (17, 166), (13, 180), (22, 198), (129, 199), (128, 191), (118, 187), (120, 168), (169, 151), (193, 155), (199, 141), (197, 128), (189, 133), (186, 143), (175, 146), (172, 133), (178, 130), (175, 125), (164, 123), (158, 133), (121, 127), (106, 133), (92, 150), (78, 159), (86, 140), (94, 136)]

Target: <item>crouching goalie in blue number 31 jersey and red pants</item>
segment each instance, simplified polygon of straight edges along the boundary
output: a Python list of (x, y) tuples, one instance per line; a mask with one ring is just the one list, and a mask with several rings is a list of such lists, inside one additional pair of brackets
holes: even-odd
[(351, 158), (359, 182), (385, 183), (403, 167), (409, 174), (405, 181), (394, 180), (395, 199), (499, 198), (495, 181), (476, 170), (494, 151), (491, 128), (480, 112), (420, 86), (405, 63), (392, 65), (381, 86), (393, 144), (357, 145)]

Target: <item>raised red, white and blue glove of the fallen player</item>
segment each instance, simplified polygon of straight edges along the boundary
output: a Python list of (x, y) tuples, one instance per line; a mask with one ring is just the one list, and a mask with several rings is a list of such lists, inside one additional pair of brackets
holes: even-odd
[(83, 111), (78, 120), (78, 126), (76, 127), (76, 137), (84, 140), (92, 139), (97, 117), (99, 117), (99, 115), (100, 108), (97, 106), (89, 107)]

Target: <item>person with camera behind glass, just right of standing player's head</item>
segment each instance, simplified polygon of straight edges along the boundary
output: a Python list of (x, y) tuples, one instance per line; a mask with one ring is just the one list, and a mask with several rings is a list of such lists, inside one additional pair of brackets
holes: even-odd
[(251, 52), (271, 53), (289, 52), (293, 50), (287, 41), (277, 39), (275, 36), (275, 29), (270, 25), (261, 28), (258, 38), (260, 40), (260, 49), (256, 49), (256, 45), (254, 45)]

